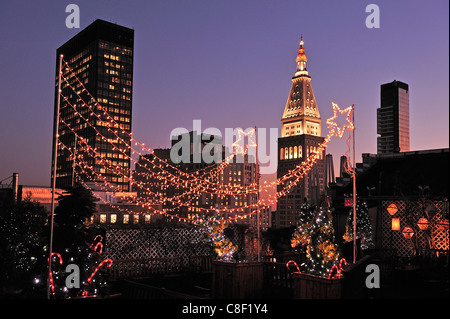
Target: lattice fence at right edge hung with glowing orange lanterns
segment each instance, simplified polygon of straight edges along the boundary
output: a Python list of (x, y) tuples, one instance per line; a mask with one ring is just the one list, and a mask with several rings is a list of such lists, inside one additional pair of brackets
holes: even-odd
[[(398, 211), (391, 216), (387, 208), (395, 204)], [(429, 218), (429, 226), (426, 230), (418, 227), (418, 220), (425, 217), (425, 206), (418, 201), (383, 201), (380, 206), (382, 211), (382, 245), (385, 249), (394, 249), (399, 257), (411, 257), (415, 253), (420, 253), (422, 249), (449, 249), (448, 230), (448, 202), (434, 201), (431, 205), (435, 208), (435, 214)], [(392, 218), (400, 219), (400, 230), (392, 230)], [(447, 227), (441, 224), (447, 220)], [(405, 238), (402, 231), (405, 227), (411, 227), (414, 234), (411, 238)], [(431, 239), (429, 241), (428, 237)], [(430, 247), (431, 243), (431, 247)]]

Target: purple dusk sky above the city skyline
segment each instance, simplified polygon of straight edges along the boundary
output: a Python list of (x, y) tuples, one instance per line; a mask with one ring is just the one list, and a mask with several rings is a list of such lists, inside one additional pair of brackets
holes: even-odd
[[(68, 29), (65, 8), (80, 7)], [(380, 8), (368, 29), (365, 7)], [(356, 105), (356, 153), (376, 153), (380, 85), (410, 88), (411, 150), (449, 147), (449, 4), (433, 1), (160, 0), (0, 3), (0, 180), (50, 185), (56, 49), (97, 18), (135, 30), (132, 130), (168, 147), (176, 127), (276, 127), (303, 33), (323, 119)], [(336, 138), (335, 163), (346, 151)], [(337, 173), (337, 172), (336, 172)]]

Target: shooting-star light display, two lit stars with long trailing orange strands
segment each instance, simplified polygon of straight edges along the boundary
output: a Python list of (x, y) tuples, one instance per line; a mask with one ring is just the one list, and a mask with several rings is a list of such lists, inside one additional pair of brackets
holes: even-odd
[[(317, 159), (320, 158), (321, 153), (325, 149), (326, 144), (329, 142), (329, 140), (331, 139), (331, 137), (333, 135), (336, 135), (339, 138), (342, 138), (346, 128), (348, 128), (349, 131), (354, 129), (353, 122), (351, 121), (351, 115), (353, 113), (353, 105), (344, 110), (341, 110), (336, 103), (332, 103), (334, 114), (333, 114), (332, 118), (327, 120), (327, 124), (329, 125), (329, 129), (330, 129), (328, 136), (325, 137), (324, 142), (322, 144), (320, 144), (318, 146), (317, 150), (315, 152), (312, 152), (311, 155), (308, 158), (306, 158), (305, 161), (298, 164), (294, 169), (290, 170), (287, 174), (278, 178), (277, 180), (275, 180), (271, 183), (264, 182), (263, 186), (260, 186), (259, 183), (253, 183), (253, 184), (245, 186), (245, 187), (237, 186), (237, 185), (221, 184), (221, 183), (217, 183), (217, 180), (214, 180), (214, 177), (218, 176), (217, 173), (222, 171), (228, 165), (228, 163), (226, 161), (224, 161), (222, 163), (214, 164), (213, 167), (215, 169), (211, 169), (206, 174), (199, 175), (199, 172), (202, 170), (196, 171), (194, 173), (187, 173), (187, 172), (181, 171), (179, 168), (171, 165), (170, 163), (164, 161), (163, 159), (158, 158), (153, 153), (152, 150), (150, 150), (144, 146), (144, 143), (139, 143), (136, 139), (133, 138), (132, 133), (127, 132), (125, 129), (123, 129), (121, 127), (121, 124), (118, 123), (114, 119), (114, 116), (111, 116), (108, 113), (108, 108), (100, 105), (98, 103), (98, 101), (96, 101), (96, 99), (89, 93), (89, 91), (86, 89), (86, 87), (84, 86), (82, 81), (77, 77), (77, 75), (74, 73), (74, 71), (69, 67), (69, 64), (66, 61), (64, 61), (64, 63), (67, 66), (66, 70), (70, 73), (69, 77), (71, 78), (71, 81), (69, 81), (64, 76), (62, 76), (62, 79), (64, 80), (66, 87), (71, 88), (73, 90), (73, 92), (75, 93), (75, 96), (78, 97), (77, 99), (80, 101), (80, 103), (78, 103), (78, 100), (77, 100), (77, 105), (72, 104), (69, 102), (67, 97), (63, 96), (61, 93), (60, 94), (64, 98), (65, 102), (67, 103), (67, 106), (70, 106), (74, 109), (75, 115), (80, 117), (85, 122), (84, 125), (92, 127), (95, 131), (95, 134), (97, 135), (97, 138), (100, 138), (105, 143), (111, 144), (111, 146), (113, 147), (114, 150), (118, 150), (122, 153), (123, 158), (136, 162), (136, 160), (133, 159), (131, 156), (129, 156), (128, 153), (130, 153), (130, 151), (132, 151), (133, 154), (136, 153), (136, 154), (140, 155), (144, 160), (147, 161), (148, 166), (149, 166), (149, 167), (147, 167), (147, 165), (142, 166), (147, 171), (147, 173), (145, 173), (145, 174), (148, 174), (148, 176), (150, 176), (150, 177), (156, 178), (160, 182), (164, 182), (164, 184), (169, 183), (169, 184), (174, 185), (175, 187), (183, 189), (184, 190), (183, 194), (176, 195), (173, 197), (163, 197), (161, 193), (154, 192), (151, 189), (145, 187), (144, 183), (133, 180), (133, 178), (129, 176), (128, 171), (124, 172), (123, 167), (120, 167), (119, 165), (115, 165), (112, 163), (111, 160), (104, 158), (104, 155), (99, 154), (95, 148), (92, 148), (90, 145), (88, 145), (87, 141), (83, 137), (79, 136), (77, 134), (77, 132), (68, 123), (66, 123), (62, 118), (60, 118), (60, 121), (63, 124), (65, 124), (67, 126), (67, 128), (69, 128), (75, 134), (75, 136), (78, 138), (80, 143), (84, 143), (86, 145), (85, 151), (90, 152), (92, 154), (92, 156), (94, 156), (96, 159), (97, 158), (99, 159), (99, 162), (102, 163), (105, 170), (113, 171), (114, 174), (117, 174), (118, 176), (123, 178), (124, 181), (130, 181), (131, 183), (138, 186), (139, 188), (148, 191), (149, 194), (155, 195), (156, 198), (160, 199), (161, 203), (169, 202), (171, 204), (174, 204), (174, 206), (186, 206), (190, 209), (194, 209), (194, 211), (196, 211), (196, 212), (198, 211), (198, 212), (205, 212), (205, 213), (206, 212), (214, 212), (215, 213), (217, 210), (215, 207), (205, 208), (205, 207), (193, 206), (192, 204), (189, 203), (189, 201), (183, 201), (183, 200), (180, 200), (180, 198), (182, 196), (190, 195), (190, 194), (194, 194), (194, 195), (198, 196), (198, 195), (201, 195), (201, 193), (209, 193), (209, 194), (218, 195), (218, 196), (245, 195), (245, 194), (259, 193), (262, 190), (267, 191), (268, 188), (274, 187), (276, 185), (283, 186), (283, 189), (278, 191), (275, 196), (269, 196), (268, 199), (261, 198), (260, 200), (258, 200), (257, 203), (242, 206), (242, 207), (237, 207), (237, 208), (221, 207), (220, 211), (232, 212), (232, 213), (244, 212), (245, 209), (252, 208), (251, 213), (245, 214), (245, 215), (240, 215), (240, 216), (236, 215), (234, 218), (232, 217), (232, 218), (228, 219), (229, 221), (246, 218), (249, 215), (258, 212), (265, 207), (270, 207), (277, 201), (278, 198), (288, 194), (291, 191), (291, 189), (295, 185), (297, 185), (298, 182), (305, 176), (305, 174), (312, 168), (312, 166), (315, 164)], [(78, 82), (78, 84), (76, 84), (77, 88), (75, 88), (74, 84), (72, 83), (73, 82), (72, 77)], [(80, 91), (80, 88), (81, 88), (81, 91)], [(87, 94), (89, 102), (86, 102), (86, 100), (83, 100), (83, 98), (80, 96), (81, 92), (85, 92)], [(91, 101), (93, 101), (93, 102), (91, 102)], [(89, 109), (90, 112), (84, 112), (85, 109), (86, 110)], [(82, 112), (82, 110), (83, 110), (83, 112)], [(101, 112), (103, 112), (103, 113), (101, 113)], [(338, 117), (338, 113), (346, 114), (347, 123), (344, 124), (342, 127), (339, 127), (339, 125), (336, 122), (334, 122), (336, 120), (336, 118)], [(123, 149), (118, 147), (115, 143), (113, 143), (113, 141), (111, 141), (111, 138), (108, 138), (105, 135), (103, 135), (102, 132), (100, 132), (97, 129), (97, 127), (94, 126), (93, 123), (99, 122), (99, 121), (102, 123), (102, 125), (105, 124), (103, 126), (105, 126), (105, 129), (108, 132), (110, 132), (111, 134), (114, 134), (116, 136), (115, 143), (119, 142), (120, 144), (124, 145)], [(119, 133), (121, 133), (121, 134), (119, 134)], [(254, 140), (254, 134), (255, 134), (255, 130), (252, 130), (249, 133), (245, 133), (242, 130), (238, 130), (238, 139), (235, 143), (233, 143), (235, 152), (232, 154), (232, 156), (235, 156), (237, 153), (245, 154), (247, 152), (248, 147), (256, 147), (256, 142)], [(241, 141), (243, 138), (245, 138), (245, 136), (248, 136), (249, 143), (247, 144), (246, 148), (243, 148), (241, 145), (238, 144), (238, 142)], [(126, 137), (127, 139), (129, 138), (129, 140), (124, 139), (124, 137)], [(132, 147), (132, 144), (133, 144), (132, 142), (136, 146), (140, 147), (141, 151), (147, 151), (149, 153), (153, 153), (153, 155), (154, 155), (153, 159), (150, 160), (150, 159), (146, 158), (145, 156), (143, 156), (144, 154), (141, 153), (140, 150), (134, 149)], [(64, 145), (61, 142), (61, 140), (59, 140), (58, 146), (62, 146), (71, 152), (71, 147)], [(84, 161), (83, 156), (74, 155), (72, 152), (71, 152), (71, 154), (73, 156), (72, 158), (80, 161), (79, 163), (75, 163), (78, 167), (80, 167), (83, 171), (84, 171), (84, 169), (88, 169), (88, 170), (92, 171), (92, 174), (87, 174), (89, 178), (91, 177), (91, 175), (93, 175), (93, 176), (95, 175), (95, 176), (98, 176), (100, 180), (105, 180), (103, 178), (104, 176), (102, 176), (100, 173), (95, 172), (93, 170), (93, 167)], [(152, 169), (154, 169), (154, 171)], [(210, 169), (210, 168), (208, 168), (208, 169)], [(105, 180), (105, 185), (112, 185), (112, 184), (107, 183), (107, 181)], [(114, 186), (114, 185), (112, 185), (112, 186)], [(115, 189), (115, 188), (113, 187), (112, 189)], [(167, 212), (170, 211), (170, 210), (158, 211), (158, 210), (155, 210), (153, 207), (151, 207), (149, 202), (145, 202), (145, 201), (144, 202), (138, 201), (138, 202), (139, 202), (139, 204), (142, 205), (142, 207), (147, 206), (147, 207), (149, 207), (149, 209), (152, 209), (156, 213), (167, 214)], [(176, 208), (174, 208), (174, 209), (176, 209)], [(170, 215), (172, 218), (176, 217), (179, 220), (185, 220), (185, 221), (189, 221), (189, 222), (199, 222), (198, 220), (193, 220), (191, 218), (188, 218), (188, 219), (181, 218), (180, 216), (177, 216), (176, 214), (168, 214), (168, 215)], [(224, 221), (224, 220), (225, 219), (222, 219), (222, 221)], [(97, 244), (95, 246), (95, 249), (97, 249), (100, 246), (101, 245)]]

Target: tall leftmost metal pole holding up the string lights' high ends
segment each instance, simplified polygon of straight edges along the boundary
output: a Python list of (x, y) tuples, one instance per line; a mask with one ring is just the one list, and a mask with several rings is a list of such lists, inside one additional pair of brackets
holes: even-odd
[(55, 120), (55, 136), (53, 137), (53, 178), (52, 178), (52, 208), (50, 219), (50, 247), (48, 255), (48, 279), (47, 279), (47, 299), (50, 299), (50, 274), (52, 273), (52, 254), (53, 254), (53, 221), (55, 217), (55, 188), (56, 188), (56, 160), (58, 158), (58, 131), (59, 131), (59, 108), (61, 103), (61, 74), (62, 74), (62, 58), (59, 56), (59, 73), (58, 73), (58, 96), (56, 98), (56, 120)]

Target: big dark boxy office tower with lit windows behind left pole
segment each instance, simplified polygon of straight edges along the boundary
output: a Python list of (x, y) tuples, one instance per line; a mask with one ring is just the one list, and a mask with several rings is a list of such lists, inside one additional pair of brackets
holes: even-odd
[(70, 69), (63, 63), (58, 134), (74, 155), (58, 147), (56, 187), (94, 179), (129, 191), (133, 46), (134, 30), (96, 20), (57, 49), (53, 133), (62, 54)]

